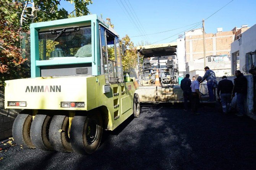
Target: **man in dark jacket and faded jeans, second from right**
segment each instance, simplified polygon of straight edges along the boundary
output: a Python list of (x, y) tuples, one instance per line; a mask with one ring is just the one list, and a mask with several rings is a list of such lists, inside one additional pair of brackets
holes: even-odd
[(227, 79), (227, 76), (223, 76), (222, 80), (218, 84), (217, 95), (221, 99), (222, 111), (224, 114), (231, 109), (231, 95), (233, 90), (233, 82)]

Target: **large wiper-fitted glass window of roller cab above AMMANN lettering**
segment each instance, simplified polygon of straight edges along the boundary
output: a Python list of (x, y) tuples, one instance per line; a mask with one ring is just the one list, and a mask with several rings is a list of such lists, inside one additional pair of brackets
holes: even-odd
[(52, 31), (39, 33), (40, 60), (91, 56), (91, 27), (80, 28), (73, 32), (66, 31), (61, 34), (52, 34)]

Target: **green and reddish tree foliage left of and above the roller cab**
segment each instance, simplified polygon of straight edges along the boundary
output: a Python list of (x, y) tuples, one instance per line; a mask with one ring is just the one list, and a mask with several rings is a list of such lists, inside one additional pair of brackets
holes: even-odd
[[(25, 11), (25, 18), (20, 25), (20, 18), (26, 0), (0, 0), (0, 88), (5, 80), (29, 77), (29, 55), (21, 50), (20, 38), (29, 37), (29, 25), (32, 22), (52, 21), (72, 16), (89, 14), (87, 6), (91, 0), (66, 0), (75, 5), (72, 14), (64, 8), (58, 9), (61, 0), (33, 0), (36, 11)], [(63, 0), (64, 1), (64, 0)], [(32, 15), (31, 15), (32, 14)], [(22, 32), (25, 32), (22, 34)], [(28, 39), (26, 39), (28, 42)], [(21, 53), (22, 56), (21, 57)]]

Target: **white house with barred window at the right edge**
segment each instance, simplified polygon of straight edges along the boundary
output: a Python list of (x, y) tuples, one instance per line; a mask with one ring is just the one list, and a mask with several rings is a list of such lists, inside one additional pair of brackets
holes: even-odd
[[(250, 117), (256, 120), (256, 75), (249, 73), (250, 69), (256, 67), (256, 24), (250, 28), (245, 28), (244, 32), (236, 36), (236, 40), (231, 43), (231, 65), (232, 74), (240, 70), (246, 75), (248, 80), (248, 91), (245, 100), (245, 111)], [(254, 114), (252, 114), (254, 113)]]

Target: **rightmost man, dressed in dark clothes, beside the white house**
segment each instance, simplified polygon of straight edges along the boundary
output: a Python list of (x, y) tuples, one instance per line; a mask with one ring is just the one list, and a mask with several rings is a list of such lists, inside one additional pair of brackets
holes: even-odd
[(233, 91), (233, 96), (235, 96), (235, 93), (237, 93), (237, 116), (243, 116), (245, 113), (244, 101), (247, 94), (247, 79), (239, 70), (235, 71), (235, 75), (237, 76), (237, 78), (234, 79), (235, 87)]

